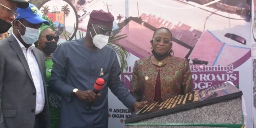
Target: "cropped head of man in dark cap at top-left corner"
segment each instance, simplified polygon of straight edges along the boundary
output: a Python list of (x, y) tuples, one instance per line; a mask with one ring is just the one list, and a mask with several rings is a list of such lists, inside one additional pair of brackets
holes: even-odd
[(18, 8), (27, 8), (29, 5), (27, 0), (0, 0), (0, 34), (7, 32), (11, 26)]

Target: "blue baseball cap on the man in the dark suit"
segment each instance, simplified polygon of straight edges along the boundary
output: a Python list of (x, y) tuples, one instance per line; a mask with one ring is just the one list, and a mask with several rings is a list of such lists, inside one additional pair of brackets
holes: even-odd
[(19, 14), (19, 16), (15, 17), (15, 20), (25, 19), (27, 20), (27, 22), (31, 24), (44, 23), (46, 25), (50, 25), (50, 23), (47, 20), (41, 17), (37, 7), (31, 3), (29, 3), (28, 8), (26, 9), (17, 8), (17, 13)]

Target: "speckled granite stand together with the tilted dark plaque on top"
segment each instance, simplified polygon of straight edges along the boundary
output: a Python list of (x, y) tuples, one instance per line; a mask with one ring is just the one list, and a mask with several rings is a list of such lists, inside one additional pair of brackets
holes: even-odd
[(154, 102), (132, 113), (126, 128), (243, 128), (242, 91), (231, 83)]

